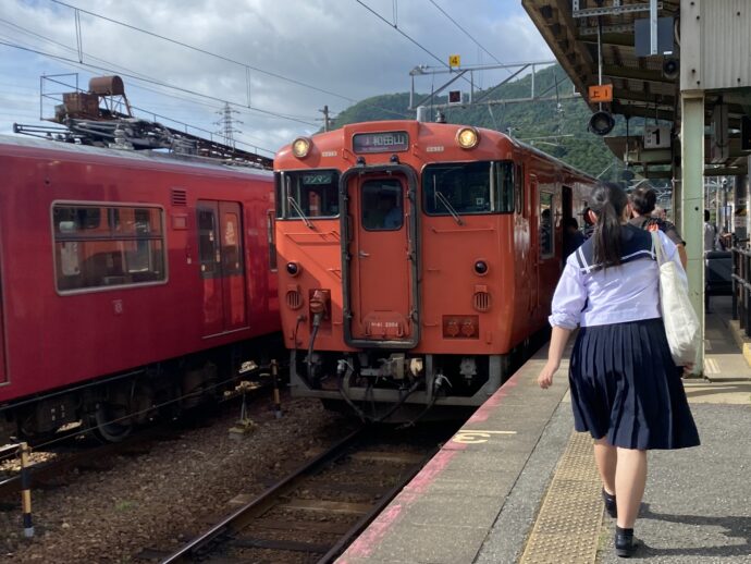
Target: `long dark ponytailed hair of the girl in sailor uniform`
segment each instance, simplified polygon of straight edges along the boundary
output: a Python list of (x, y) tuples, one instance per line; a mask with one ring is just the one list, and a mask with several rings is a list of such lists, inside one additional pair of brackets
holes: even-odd
[(620, 218), (628, 196), (617, 184), (604, 182), (592, 192), (590, 207), (598, 214), (592, 233), (593, 262), (603, 268), (620, 265)]

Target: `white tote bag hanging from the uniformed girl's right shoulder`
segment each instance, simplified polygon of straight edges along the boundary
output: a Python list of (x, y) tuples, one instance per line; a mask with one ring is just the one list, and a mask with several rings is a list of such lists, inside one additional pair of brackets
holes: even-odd
[(678, 273), (678, 266), (665, 257), (658, 232), (652, 232), (652, 244), (660, 267), (660, 307), (670, 355), (677, 366), (694, 363), (701, 336), (699, 318), (689, 301), (688, 289)]

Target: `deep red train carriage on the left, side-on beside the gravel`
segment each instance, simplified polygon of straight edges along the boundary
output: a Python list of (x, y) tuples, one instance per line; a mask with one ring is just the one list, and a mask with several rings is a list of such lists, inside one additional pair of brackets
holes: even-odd
[(270, 173), (15, 137), (0, 169), (0, 415), (22, 434), (121, 439), (279, 331)]

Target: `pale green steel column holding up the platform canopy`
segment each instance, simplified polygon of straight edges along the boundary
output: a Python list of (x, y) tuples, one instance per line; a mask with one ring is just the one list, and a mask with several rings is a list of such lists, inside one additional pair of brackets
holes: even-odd
[(689, 297), (701, 327), (702, 342), (697, 352), (693, 372), (704, 372), (704, 93), (680, 95), (682, 191), (680, 233), (686, 241)]

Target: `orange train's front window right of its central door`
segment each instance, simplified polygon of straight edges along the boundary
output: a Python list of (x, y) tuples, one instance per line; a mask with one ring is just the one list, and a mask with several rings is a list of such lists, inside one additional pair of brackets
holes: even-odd
[(512, 213), (514, 163), (442, 162), (422, 171), (422, 206), (429, 216)]

